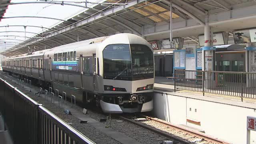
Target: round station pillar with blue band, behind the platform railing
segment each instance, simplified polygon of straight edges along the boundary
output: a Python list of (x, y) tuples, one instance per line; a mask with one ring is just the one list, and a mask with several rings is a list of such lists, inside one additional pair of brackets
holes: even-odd
[[(213, 32), (209, 26), (209, 16), (205, 17), (205, 26), (204, 26), (204, 47), (202, 48), (202, 71), (213, 71), (214, 62), (215, 62), (215, 50), (213, 47), (212, 38)], [(204, 84), (205, 88), (212, 89), (215, 88), (214, 73), (206, 72), (204, 75)]]

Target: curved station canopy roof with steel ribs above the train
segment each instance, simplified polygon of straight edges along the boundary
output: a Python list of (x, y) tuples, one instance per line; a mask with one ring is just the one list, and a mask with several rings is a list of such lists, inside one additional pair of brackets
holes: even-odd
[[(52, 13), (51, 16), (44, 16), (40, 10), (31, 16), (15, 15), (4, 16), (5, 9), (26, 8), (27, 6), (34, 6), (40, 3), (42, 10)], [(37, 4), (37, 5), (40, 5)], [(54, 11), (52, 5), (62, 7), (60, 11)], [(205, 16), (208, 14), (216, 14), (223, 12), (231, 12), (234, 8), (244, 8), (246, 6), (254, 6), (254, 0), (172, 0), (172, 22), (173, 27), (179, 22), (185, 21), (185, 26), (193, 23), (194, 28), (204, 26)], [(68, 18), (60, 18), (62, 13), (65, 13), (69, 8), (74, 7), (78, 12)], [(2, 0), (0, 3), (1, 17), (0, 17), (0, 53), (4, 56), (14, 56), (28, 53), (28, 50), (37, 51), (56, 46), (69, 44), (72, 42), (87, 40), (91, 38), (110, 36), (117, 33), (133, 33), (139, 36), (149, 38), (147, 40), (158, 38), (170, 38), (170, 32), (159, 34), (152, 38), (147, 33), (154, 33), (156, 26), (170, 28), (170, 0), (73, 0), (73, 1), (47, 1), (47, 0), (24, 0), (24, 2)], [(29, 7), (27, 7), (29, 9)], [(4, 10), (4, 11), (2, 11)], [(8, 14), (8, 10), (6, 14)], [(208, 12), (208, 14), (206, 13)], [(57, 14), (55, 14), (57, 13)], [(40, 15), (41, 14), (41, 15)], [(29, 24), (8, 23), (9, 19), (26, 19)], [(33, 22), (38, 20), (52, 20), (54, 24), (51, 26), (34, 25), (38, 28), (34, 31), (28, 31), (28, 27)], [(11, 27), (23, 28), (14, 30)], [(48, 24), (49, 25), (49, 24)], [(165, 28), (166, 29), (166, 28)], [(31, 29), (32, 30), (32, 29)], [(203, 32), (201, 27), (200, 32), (192, 32), (194, 29), (190, 27), (191, 34), (185, 36), (178, 29), (174, 32), (174, 36), (184, 37), (184, 44), (198, 44), (198, 34)], [(170, 30), (169, 30), (170, 31)], [(11, 34), (14, 32), (14, 34)], [(2, 35), (3, 34), (3, 35)], [(230, 36), (232, 32), (230, 30)]]

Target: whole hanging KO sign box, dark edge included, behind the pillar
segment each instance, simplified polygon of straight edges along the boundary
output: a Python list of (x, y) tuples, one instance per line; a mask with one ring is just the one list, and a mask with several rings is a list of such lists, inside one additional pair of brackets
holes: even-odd
[[(204, 35), (198, 36), (199, 45), (204, 46)], [(228, 44), (228, 32), (218, 32), (213, 34), (213, 45), (226, 45)]]

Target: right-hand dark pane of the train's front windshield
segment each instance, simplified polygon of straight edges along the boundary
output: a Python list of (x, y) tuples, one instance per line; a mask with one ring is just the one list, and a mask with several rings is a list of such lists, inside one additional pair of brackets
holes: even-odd
[(154, 78), (154, 60), (152, 50), (141, 44), (131, 44), (132, 80)]

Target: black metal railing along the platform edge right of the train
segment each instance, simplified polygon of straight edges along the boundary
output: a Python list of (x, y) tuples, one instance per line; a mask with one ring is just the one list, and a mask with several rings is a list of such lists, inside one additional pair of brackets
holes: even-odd
[(256, 73), (175, 70), (174, 89), (256, 98)]

